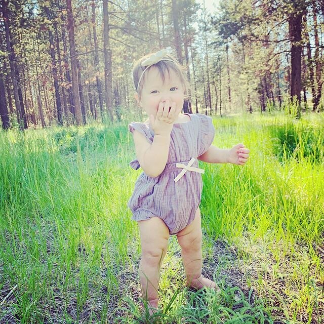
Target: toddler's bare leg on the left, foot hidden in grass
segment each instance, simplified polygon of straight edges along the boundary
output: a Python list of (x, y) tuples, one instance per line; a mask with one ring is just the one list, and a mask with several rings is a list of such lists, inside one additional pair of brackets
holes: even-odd
[(152, 217), (139, 221), (142, 259), (139, 267), (139, 277), (143, 298), (149, 307), (157, 308), (158, 279), (161, 263), (167, 253), (169, 228), (163, 220)]

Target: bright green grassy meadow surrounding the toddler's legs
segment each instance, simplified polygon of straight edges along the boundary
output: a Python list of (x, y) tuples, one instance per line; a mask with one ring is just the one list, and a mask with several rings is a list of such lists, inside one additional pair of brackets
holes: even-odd
[(0, 323), (323, 323), (324, 115), (214, 117), (216, 146), (251, 150), (244, 167), (199, 163), (204, 274), (221, 292), (184, 288), (171, 237), (151, 319), (129, 121), (0, 132)]

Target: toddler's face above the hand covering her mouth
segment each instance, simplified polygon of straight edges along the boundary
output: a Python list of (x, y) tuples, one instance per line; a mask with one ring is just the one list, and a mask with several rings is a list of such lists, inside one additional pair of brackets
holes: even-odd
[[(170, 75), (165, 73), (165, 80), (159, 74), (156, 67), (152, 67), (145, 75), (142, 95), (139, 104), (146, 111), (147, 115), (156, 117), (160, 102), (176, 103), (176, 107), (183, 106), (184, 88), (181, 79), (172, 69)], [(179, 110), (179, 112), (181, 109)], [(177, 116), (176, 116), (177, 117)]]

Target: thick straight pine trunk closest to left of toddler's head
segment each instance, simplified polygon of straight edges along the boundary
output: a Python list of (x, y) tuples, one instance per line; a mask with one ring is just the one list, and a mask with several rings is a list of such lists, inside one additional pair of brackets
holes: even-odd
[(112, 114), (112, 66), (111, 66), (111, 49), (109, 48), (109, 17), (108, 17), (108, 0), (103, 0), (103, 40), (105, 54), (105, 99), (106, 108), (113, 122)]

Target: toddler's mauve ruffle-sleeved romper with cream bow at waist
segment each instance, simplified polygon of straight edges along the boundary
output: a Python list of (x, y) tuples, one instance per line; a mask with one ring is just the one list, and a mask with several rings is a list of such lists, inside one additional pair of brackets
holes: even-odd
[[(170, 234), (178, 233), (194, 219), (203, 189), (201, 173), (204, 173), (198, 169), (197, 156), (208, 150), (215, 136), (210, 117), (200, 113), (189, 116), (190, 121), (173, 125), (164, 171), (156, 178), (142, 172), (128, 201), (133, 220), (159, 217), (168, 226)], [(153, 142), (154, 133), (148, 123), (133, 121), (129, 130), (132, 133), (137, 130), (149, 143)], [(137, 159), (132, 160), (130, 166), (135, 170), (140, 168)]]

